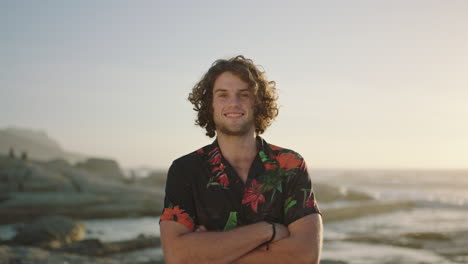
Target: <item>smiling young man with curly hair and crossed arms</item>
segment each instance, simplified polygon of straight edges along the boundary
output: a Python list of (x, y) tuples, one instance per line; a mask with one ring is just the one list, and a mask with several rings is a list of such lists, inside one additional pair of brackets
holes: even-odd
[(189, 96), (216, 140), (173, 162), (160, 229), (167, 263), (319, 263), (321, 213), (303, 158), (258, 135), (278, 115), (251, 60), (217, 60)]

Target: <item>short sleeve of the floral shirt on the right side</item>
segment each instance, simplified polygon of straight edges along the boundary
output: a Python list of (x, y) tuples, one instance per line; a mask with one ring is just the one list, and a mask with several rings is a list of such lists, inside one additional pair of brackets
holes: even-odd
[(285, 225), (309, 214), (322, 215), (315, 200), (307, 165), (299, 154), (296, 155), (301, 162), (300, 166), (292, 170), (288, 177), (283, 207)]

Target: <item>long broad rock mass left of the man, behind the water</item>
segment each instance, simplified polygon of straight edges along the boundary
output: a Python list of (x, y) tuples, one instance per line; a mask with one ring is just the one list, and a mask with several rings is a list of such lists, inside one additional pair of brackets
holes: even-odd
[(0, 156), (0, 224), (52, 214), (73, 218), (159, 215), (163, 196), (159, 186), (128, 185), (121, 178), (60, 160), (24, 162)]

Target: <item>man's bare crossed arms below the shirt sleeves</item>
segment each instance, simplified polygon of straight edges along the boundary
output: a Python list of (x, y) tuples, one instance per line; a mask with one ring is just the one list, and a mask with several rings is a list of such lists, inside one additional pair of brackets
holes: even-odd
[(277, 224), (270, 249), (257, 248), (272, 236), (271, 225), (259, 222), (227, 232), (191, 232), (172, 221), (161, 222), (161, 241), (167, 263), (319, 263), (322, 218), (304, 216), (289, 226)]

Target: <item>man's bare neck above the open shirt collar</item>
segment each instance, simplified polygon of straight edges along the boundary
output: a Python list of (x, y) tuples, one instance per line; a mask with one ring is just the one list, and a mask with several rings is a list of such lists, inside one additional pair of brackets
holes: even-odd
[(255, 133), (243, 136), (229, 136), (223, 133), (217, 136), (218, 145), (224, 158), (236, 165), (239, 163), (252, 163), (257, 155), (257, 142)]

